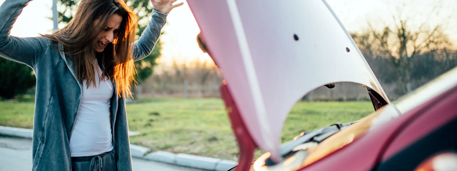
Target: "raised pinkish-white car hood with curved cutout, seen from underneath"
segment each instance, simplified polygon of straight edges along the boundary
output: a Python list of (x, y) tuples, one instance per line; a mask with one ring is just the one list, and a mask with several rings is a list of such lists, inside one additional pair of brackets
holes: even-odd
[(240, 120), (231, 118), (232, 125), (241, 122), (253, 143), (273, 160), (280, 158), (287, 114), (315, 88), (360, 83), (390, 103), (325, 0), (187, 2), (237, 106)]

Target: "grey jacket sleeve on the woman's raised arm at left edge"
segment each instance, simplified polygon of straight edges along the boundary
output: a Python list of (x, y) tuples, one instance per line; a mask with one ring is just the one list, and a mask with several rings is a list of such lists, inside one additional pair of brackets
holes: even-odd
[(14, 22), (29, 1), (5, 0), (0, 6), (0, 56), (34, 67), (45, 52), (48, 39), (10, 36)]

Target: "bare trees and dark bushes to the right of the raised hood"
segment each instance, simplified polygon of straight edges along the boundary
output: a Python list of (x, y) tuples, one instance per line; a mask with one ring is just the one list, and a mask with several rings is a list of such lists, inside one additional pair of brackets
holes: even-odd
[(412, 31), (407, 23), (351, 34), (379, 81), (396, 84), (399, 95), (457, 66), (456, 46), (441, 25)]

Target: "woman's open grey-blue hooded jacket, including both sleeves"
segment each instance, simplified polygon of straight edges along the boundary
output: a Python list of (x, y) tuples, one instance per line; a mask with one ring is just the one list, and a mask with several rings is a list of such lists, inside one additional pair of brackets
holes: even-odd
[[(80, 107), (82, 84), (72, 61), (54, 47), (61, 44), (45, 37), (19, 38), (10, 30), (30, 0), (6, 0), (0, 6), (0, 56), (33, 68), (37, 77), (33, 120), (33, 171), (70, 171), (69, 139)], [(152, 12), (149, 25), (135, 42), (133, 56), (142, 59), (151, 53), (167, 14)], [(114, 83), (114, 82), (113, 82)], [(116, 87), (116, 86), (114, 86)], [(117, 90), (111, 99), (112, 140), (119, 171), (131, 171), (132, 162), (125, 99)]]

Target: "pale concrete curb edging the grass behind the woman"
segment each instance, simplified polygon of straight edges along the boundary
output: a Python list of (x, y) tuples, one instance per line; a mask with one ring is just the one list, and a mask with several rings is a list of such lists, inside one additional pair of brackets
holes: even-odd
[[(138, 135), (138, 132), (129, 131), (130, 136)], [(0, 135), (16, 136), (21, 138), (33, 138), (33, 130), (25, 128), (14, 128), (0, 126)], [(186, 166), (207, 171), (227, 171), (237, 165), (236, 161), (226, 161), (213, 157), (200, 155), (175, 154), (168, 151), (155, 151), (140, 145), (130, 144), (132, 157), (149, 161), (162, 162), (178, 166)], [(233, 170), (235, 171), (235, 169)]]

